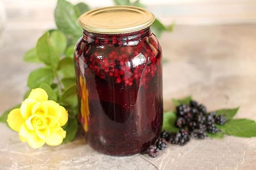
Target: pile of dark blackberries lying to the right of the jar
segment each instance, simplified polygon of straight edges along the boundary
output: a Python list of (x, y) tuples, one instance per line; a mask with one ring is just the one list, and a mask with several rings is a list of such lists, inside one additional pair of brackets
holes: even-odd
[(189, 142), (190, 138), (204, 139), (208, 133), (216, 133), (219, 130), (215, 124), (223, 125), (227, 122), (223, 115), (216, 116), (216, 112), (207, 113), (207, 108), (191, 100), (189, 105), (179, 105), (176, 107), (177, 120), (176, 127), (180, 130), (175, 133), (169, 133), (163, 130), (155, 145), (148, 148), (148, 155), (156, 157), (159, 150), (167, 147), (167, 142), (171, 144), (184, 145)]

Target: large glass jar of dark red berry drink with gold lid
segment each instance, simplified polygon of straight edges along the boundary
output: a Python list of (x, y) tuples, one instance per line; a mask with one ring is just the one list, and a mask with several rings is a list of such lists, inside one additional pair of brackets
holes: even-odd
[(153, 21), (153, 14), (131, 6), (79, 17), (84, 29), (74, 54), (79, 122), (88, 144), (99, 152), (140, 153), (160, 133), (162, 51), (150, 29)]

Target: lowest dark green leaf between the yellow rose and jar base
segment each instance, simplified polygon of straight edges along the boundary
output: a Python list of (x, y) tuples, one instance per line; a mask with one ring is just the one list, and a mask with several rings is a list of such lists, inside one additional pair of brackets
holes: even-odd
[(66, 137), (63, 139), (62, 143), (72, 142), (76, 136), (78, 130), (77, 119), (69, 118), (67, 124), (63, 126), (63, 129), (66, 130)]

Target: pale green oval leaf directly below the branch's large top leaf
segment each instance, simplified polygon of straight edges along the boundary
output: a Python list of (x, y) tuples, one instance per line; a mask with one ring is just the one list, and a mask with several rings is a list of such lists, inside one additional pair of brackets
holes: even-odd
[(61, 31), (52, 31), (49, 40), (58, 56), (64, 54), (67, 48), (67, 38)]

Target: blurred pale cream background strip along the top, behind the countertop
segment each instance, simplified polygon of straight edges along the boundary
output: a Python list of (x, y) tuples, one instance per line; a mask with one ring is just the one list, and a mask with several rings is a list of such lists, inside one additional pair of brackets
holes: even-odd
[[(9, 28), (17, 24), (24, 29), (28, 26), (54, 27), (52, 11), (57, 0), (2, 0), (2, 2), (6, 8)], [(70, 2), (84, 2), (91, 8), (113, 5), (113, 0), (70, 0)], [(256, 0), (141, 0), (141, 2), (165, 24), (173, 21), (177, 25), (256, 23)], [(42, 21), (44, 25), (41, 24)]]

